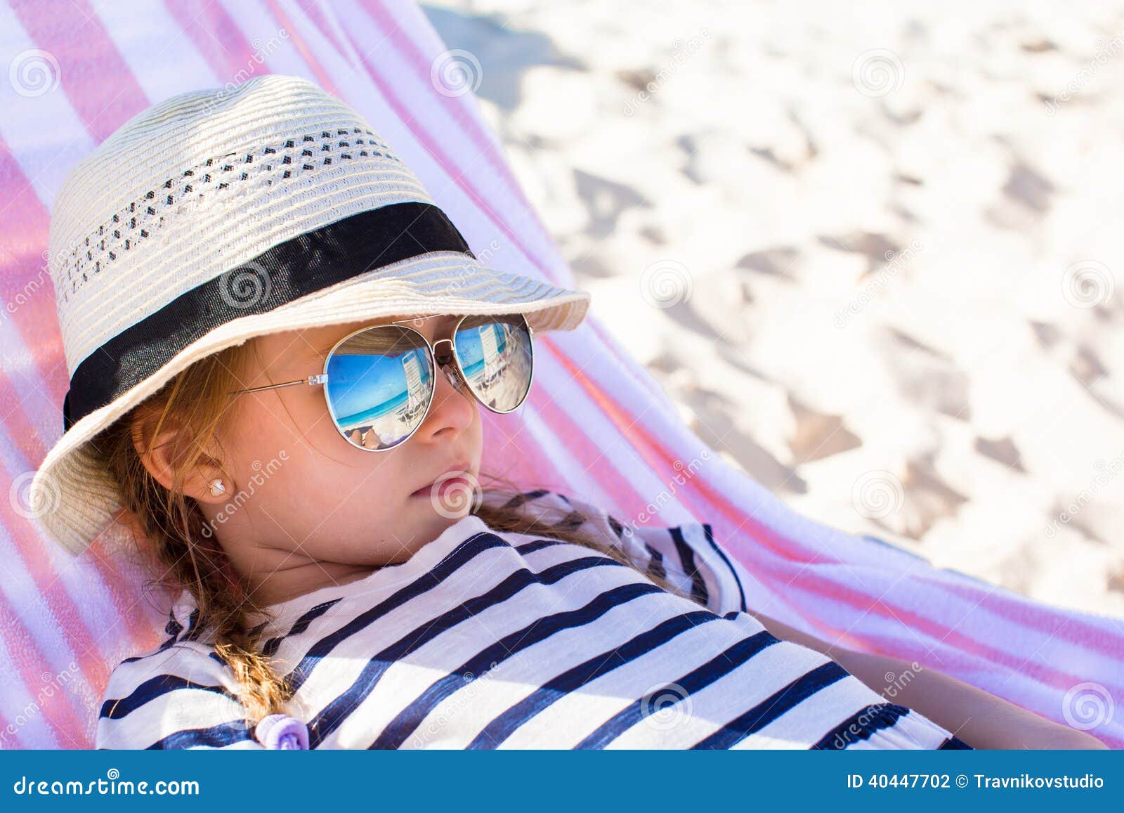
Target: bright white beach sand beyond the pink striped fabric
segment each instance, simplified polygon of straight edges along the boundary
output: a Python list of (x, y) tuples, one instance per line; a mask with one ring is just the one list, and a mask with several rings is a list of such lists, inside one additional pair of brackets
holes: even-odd
[(800, 513), (1124, 618), (1124, 6), (437, 2), (699, 436)]

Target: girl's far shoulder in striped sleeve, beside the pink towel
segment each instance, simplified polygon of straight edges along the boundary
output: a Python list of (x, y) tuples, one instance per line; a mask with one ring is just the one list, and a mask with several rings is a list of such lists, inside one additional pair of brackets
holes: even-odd
[(484, 500), (588, 533), (718, 614), (746, 609), (744, 569), (715, 542), (709, 523), (642, 525), (572, 493), (546, 488), (502, 496), (486, 493)]

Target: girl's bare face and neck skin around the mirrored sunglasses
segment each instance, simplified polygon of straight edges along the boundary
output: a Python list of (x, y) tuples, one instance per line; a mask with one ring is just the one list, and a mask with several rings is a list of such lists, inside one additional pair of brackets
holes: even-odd
[[(325, 356), (338, 340), (402, 318), (257, 336), (250, 340), (252, 367), (244, 386), (323, 372)], [(448, 337), (457, 318), (435, 316), (410, 326), (432, 343)], [(344, 584), (375, 567), (405, 561), (468, 514), (469, 499), (451, 505), (450, 497), (433, 497), (429, 486), (451, 469), (466, 471), (469, 480), (477, 481), (482, 445), (478, 404), (441, 371), (434, 381), (425, 421), (405, 443), (381, 452), (356, 449), (339, 435), (323, 387), (235, 396), (229, 421), (218, 428), (227, 491), (221, 497), (208, 491), (197, 499), (234, 567), (255, 585), (261, 603)]]

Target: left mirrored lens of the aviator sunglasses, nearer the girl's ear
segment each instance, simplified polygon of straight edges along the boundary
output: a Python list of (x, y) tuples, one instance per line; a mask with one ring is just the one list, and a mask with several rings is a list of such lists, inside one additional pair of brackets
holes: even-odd
[(328, 409), (341, 434), (363, 449), (396, 446), (416, 430), (433, 398), (433, 363), (414, 331), (380, 325), (328, 356)]

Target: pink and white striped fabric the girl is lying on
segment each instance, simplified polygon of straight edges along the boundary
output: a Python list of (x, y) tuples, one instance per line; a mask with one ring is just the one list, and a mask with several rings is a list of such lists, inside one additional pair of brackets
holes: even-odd
[[(471, 94), (430, 82), (445, 51), (422, 11), (374, 0), (0, 2), (0, 747), (89, 748), (110, 668), (154, 645), (163, 597), (108, 539), (78, 559), (22, 508), (62, 431), (66, 367), (44, 252), (70, 165), (148, 105), (261, 73), (303, 75), (363, 114), (489, 264), (572, 284)], [(20, 64), (24, 64), (21, 62)], [(30, 74), (29, 74), (30, 75)], [(54, 83), (57, 85), (54, 87)], [(39, 92), (42, 91), (42, 92)], [(595, 304), (596, 308), (596, 304)], [(1032, 602), (804, 517), (701, 443), (589, 317), (549, 334), (514, 416), (484, 415), (484, 470), (641, 524), (709, 522), (752, 608), (842, 645), (917, 661), (1124, 747), (1124, 622)], [(986, 543), (986, 540), (981, 540)]]

